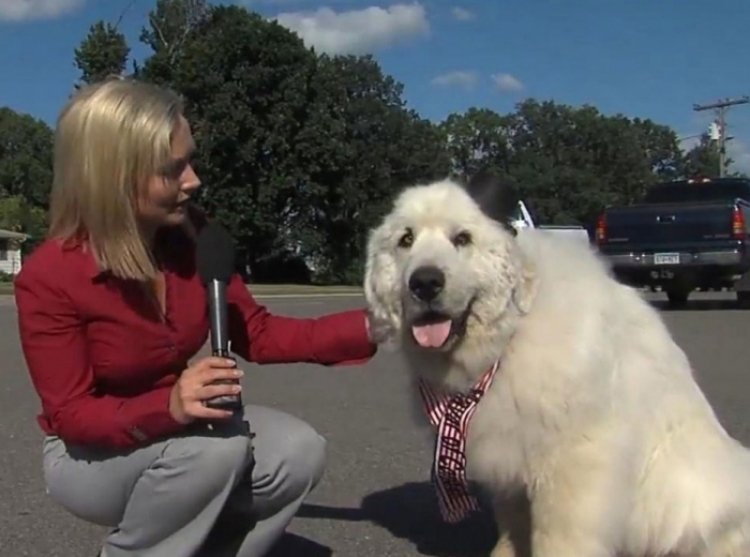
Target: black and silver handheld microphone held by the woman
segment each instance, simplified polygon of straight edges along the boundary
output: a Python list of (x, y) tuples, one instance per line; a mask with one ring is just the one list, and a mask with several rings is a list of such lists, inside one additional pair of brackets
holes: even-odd
[[(198, 233), (196, 267), (206, 286), (208, 317), (211, 331), (211, 353), (220, 358), (234, 359), (230, 354), (229, 327), (227, 324), (227, 285), (234, 273), (234, 242), (229, 232), (217, 222), (209, 222)], [(237, 384), (236, 379), (217, 381), (219, 384)], [(238, 410), (242, 396), (225, 395), (206, 400), (209, 408)]]

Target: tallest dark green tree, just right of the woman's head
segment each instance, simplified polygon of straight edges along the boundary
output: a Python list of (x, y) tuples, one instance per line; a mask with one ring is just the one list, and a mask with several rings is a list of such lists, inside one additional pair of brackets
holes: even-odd
[[(297, 138), (315, 55), (286, 28), (238, 6), (212, 8), (163, 79), (185, 97), (205, 183), (203, 205), (251, 267), (289, 248), (304, 172)], [(149, 79), (161, 66), (144, 65)]]

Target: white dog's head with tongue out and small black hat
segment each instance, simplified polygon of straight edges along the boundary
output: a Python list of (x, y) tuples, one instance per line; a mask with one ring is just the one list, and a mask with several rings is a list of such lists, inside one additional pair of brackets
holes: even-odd
[(365, 295), (374, 336), (449, 352), (510, 304), (528, 311), (534, 275), (510, 220), (513, 188), (482, 172), (408, 188), (369, 238)]

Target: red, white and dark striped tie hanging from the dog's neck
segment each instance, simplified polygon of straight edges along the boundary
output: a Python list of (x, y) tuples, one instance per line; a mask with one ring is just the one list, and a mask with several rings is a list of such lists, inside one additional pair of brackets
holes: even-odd
[(432, 481), (438, 494), (440, 514), (446, 522), (460, 522), (479, 503), (469, 493), (466, 481), (466, 434), (479, 400), (492, 384), (499, 362), (468, 392), (439, 393), (420, 379), (419, 393), (432, 425), (437, 427)]

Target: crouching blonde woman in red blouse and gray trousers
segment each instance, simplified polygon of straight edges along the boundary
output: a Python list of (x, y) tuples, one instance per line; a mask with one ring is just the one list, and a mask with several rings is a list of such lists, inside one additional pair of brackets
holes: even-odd
[[(123, 79), (78, 92), (55, 132), (49, 238), (15, 283), (48, 492), (113, 528), (105, 557), (222, 555), (229, 530), (243, 536), (233, 555), (264, 555), (323, 472), (324, 440), (304, 422), (247, 406), (251, 440), (242, 416), (202, 402), (237, 393), (211, 383), (241, 372), (220, 358), (188, 363), (208, 334), (193, 150), (173, 93)], [(363, 311), (274, 316), (239, 276), (228, 300), (232, 348), (246, 360), (375, 353)]]

